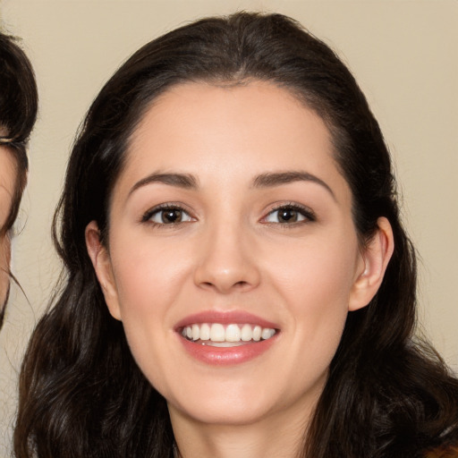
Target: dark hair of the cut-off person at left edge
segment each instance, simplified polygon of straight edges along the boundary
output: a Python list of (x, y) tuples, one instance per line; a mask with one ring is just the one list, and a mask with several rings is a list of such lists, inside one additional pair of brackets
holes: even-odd
[[(10, 231), (19, 212), (29, 168), (27, 144), (37, 111), (38, 90), (30, 60), (15, 38), (0, 32), (0, 147), (8, 149), (16, 165), (12, 205), (2, 233)], [(0, 304), (0, 327), (3, 319)]]

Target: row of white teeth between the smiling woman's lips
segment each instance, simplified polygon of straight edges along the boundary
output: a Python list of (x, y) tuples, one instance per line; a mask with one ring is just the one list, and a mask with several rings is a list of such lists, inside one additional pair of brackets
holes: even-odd
[(202, 323), (182, 327), (182, 336), (195, 344), (214, 347), (233, 347), (254, 344), (276, 335), (272, 327), (250, 324)]

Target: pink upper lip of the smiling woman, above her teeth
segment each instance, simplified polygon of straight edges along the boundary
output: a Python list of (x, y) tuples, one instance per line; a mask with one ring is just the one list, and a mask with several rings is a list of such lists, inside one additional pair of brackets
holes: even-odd
[(182, 327), (191, 326), (199, 323), (221, 323), (222, 325), (230, 324), (248, 324), (258, 325), (260, 327), (270, 327), (278, 329), (278, 325), (265, 318), (260, 318), (250, 312), (243, 310), (219, 311), (219, 310), (205, 310), (199, 313), (194, 313), (182, 318), (175, 325), (175, 330)]

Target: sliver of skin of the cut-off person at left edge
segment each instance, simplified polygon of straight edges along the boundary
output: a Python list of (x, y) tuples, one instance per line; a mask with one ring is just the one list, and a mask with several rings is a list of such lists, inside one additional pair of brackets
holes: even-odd
[(10, 284), (10, 239), (4, 227), (11, 211), (16, 167), (12, 154), (0, 147), (0, 316)]

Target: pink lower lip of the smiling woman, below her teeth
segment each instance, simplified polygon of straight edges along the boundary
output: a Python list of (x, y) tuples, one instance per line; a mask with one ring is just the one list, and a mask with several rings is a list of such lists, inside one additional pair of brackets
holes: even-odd
[(267, 340), (235, 347), (213, 347), (211, 345), (196, 344), (179, 335), (185, 350), (193, 358), (213, 366), (230, 366), (253, 360), (267, 352), (272, 344), (275, 343), (276, 337), (277, 334)]

